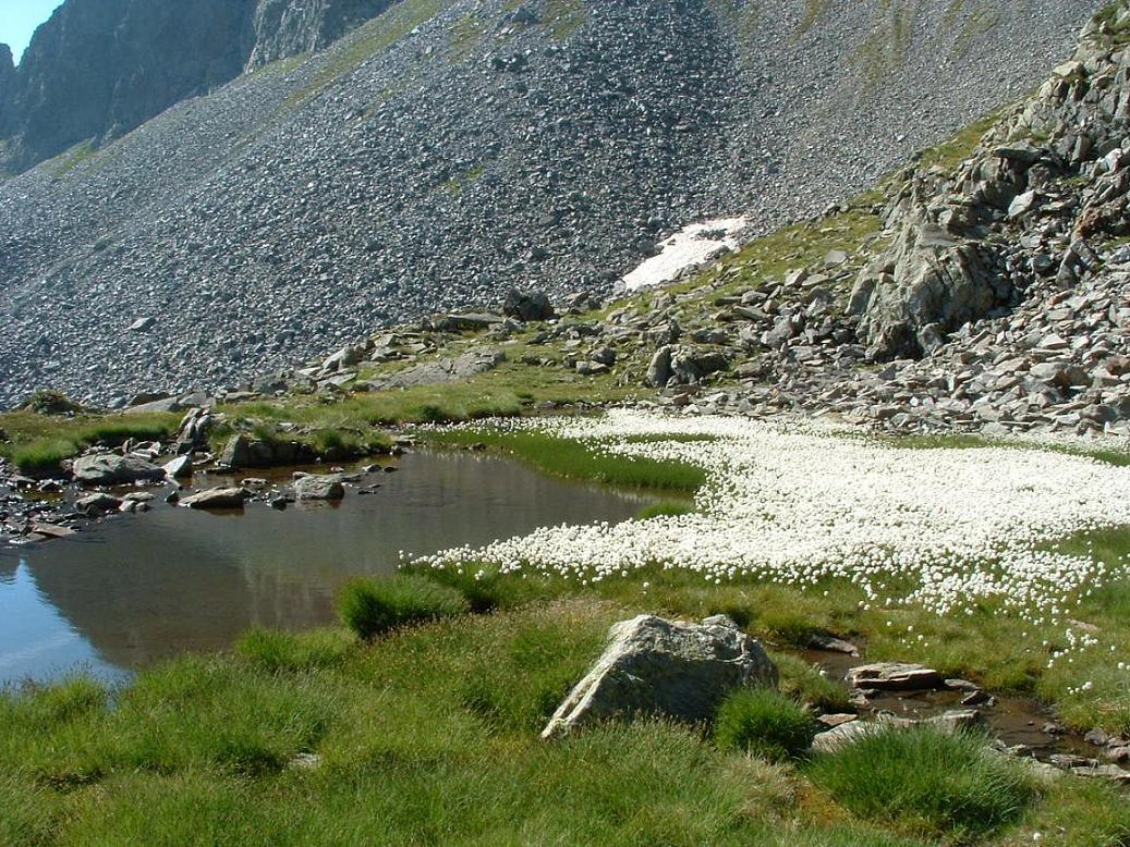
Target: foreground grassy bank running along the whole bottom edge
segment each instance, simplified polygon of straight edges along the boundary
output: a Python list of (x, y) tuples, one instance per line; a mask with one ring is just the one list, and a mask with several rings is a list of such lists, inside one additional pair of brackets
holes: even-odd
[(118, 692), (75, 681), (0, 698), (0, 841), (909, 847), (1059, 832), (1049, 842), (1081, 847), (1130, 833), (1114, 789), (1012, 766), (971, 774), (976, 753), (939, 760), (937, 739), (849, 765), (898, 768), (965, 806), (913, 791), (881, 804), (881, 768), (845, 792), (834, 760), (770, 763), (694, 727), (541, 742), (608, 626), (638, 609), (533, 603), (372, 644), (253, 632), (233, 655), (182, 658)]

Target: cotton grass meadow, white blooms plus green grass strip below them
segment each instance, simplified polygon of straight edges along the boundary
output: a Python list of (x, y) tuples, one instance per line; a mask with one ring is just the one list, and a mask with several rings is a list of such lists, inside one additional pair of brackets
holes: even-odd
[(547, 527), (416, 568), (736, 610), (785, 641), (834, 630), (872, 657), (1038, 693), (1080, 728), (1130, 728), (1121, 445), (1102, 461), (1070, 442), (899, 444), (818, 421), (623, 410), (493, 428), (580, 442), (596, 462), (697, 466), (705, 482), (688, 514)]

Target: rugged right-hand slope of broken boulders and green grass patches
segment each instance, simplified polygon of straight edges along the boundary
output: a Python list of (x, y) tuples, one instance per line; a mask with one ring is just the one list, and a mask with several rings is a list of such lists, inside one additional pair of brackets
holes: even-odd
[(351, 391), (381, 409), (391, 390), (503, 383), (531, 402), (554, 386), (544, 396), (831, 413), (897, 434), (1127, 437), (1128, 204), (1123, 0), (1019, 105), (673, 286), (566, 298), (557, 314), (515, 294), (502, 314), (380, 332), (240, 399), (281, 391), (288, 409)]

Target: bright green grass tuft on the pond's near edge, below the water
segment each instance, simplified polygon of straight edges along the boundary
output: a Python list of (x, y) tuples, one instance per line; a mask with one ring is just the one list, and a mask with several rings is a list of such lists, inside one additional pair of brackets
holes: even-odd
[(470, 609), (460, 591), (414, 574), (355, 579), (342, 590), (339, 601), (341, 620), (366, 641), (411, 623), (466, 614)]

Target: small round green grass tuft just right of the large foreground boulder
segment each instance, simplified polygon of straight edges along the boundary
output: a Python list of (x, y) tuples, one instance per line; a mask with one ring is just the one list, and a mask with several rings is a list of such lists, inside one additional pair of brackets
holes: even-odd
[(720, 749), (774, 762), (803, 757), (816, 730), (816, 718), (808, 709), (770, 688), (734, 691), (714, 716), (714, 743)]

